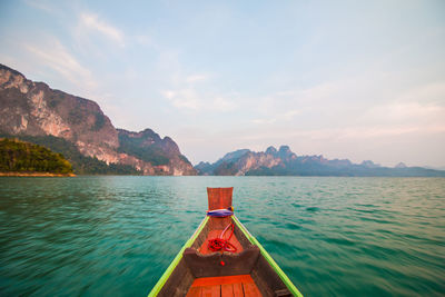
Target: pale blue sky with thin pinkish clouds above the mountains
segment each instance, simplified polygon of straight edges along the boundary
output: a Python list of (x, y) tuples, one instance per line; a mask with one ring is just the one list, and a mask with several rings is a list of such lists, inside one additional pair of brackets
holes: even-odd
[(443, 0), (0, 0), (0, 63), (194, 165), (288, 145), (445, 168)]

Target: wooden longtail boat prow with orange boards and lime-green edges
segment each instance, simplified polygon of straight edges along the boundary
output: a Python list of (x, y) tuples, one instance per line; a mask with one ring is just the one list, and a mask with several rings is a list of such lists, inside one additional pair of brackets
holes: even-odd
[(303, 296), (234, 215), (234, 188), (207, 188), (208, 211), (151, 296)]

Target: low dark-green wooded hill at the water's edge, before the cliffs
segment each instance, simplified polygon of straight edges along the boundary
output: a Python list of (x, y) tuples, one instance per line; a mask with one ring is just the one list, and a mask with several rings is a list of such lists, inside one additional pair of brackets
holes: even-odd
[(0, 138), (0, 176), (75, 176), (63, 155), (46, 147)]

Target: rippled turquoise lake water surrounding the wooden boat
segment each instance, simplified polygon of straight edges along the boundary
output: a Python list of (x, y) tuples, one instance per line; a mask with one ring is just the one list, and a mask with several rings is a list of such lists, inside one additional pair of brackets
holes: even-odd
[(228, 186), (304, 295), (445, 295), (443, 178), (3, 177), (0, 296), (146, 296)]

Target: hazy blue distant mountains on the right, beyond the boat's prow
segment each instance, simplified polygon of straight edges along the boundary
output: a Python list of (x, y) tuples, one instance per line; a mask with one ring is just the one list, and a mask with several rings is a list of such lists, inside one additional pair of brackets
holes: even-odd
[(328, 160), (323, 156), (297, 156), (288, 146), (278, 150), (269, 147), (255, 152), (240, 149), (226, 154), (214, 164), (200, 162), (195, 166), (204, 176), (382, 176), (382, 177), (445, 177), (445, 171), (422, 167), (407, 167), (400, 162), (394, 168), (382, 167), (373, 161), (353, 164), (344, 160)]

